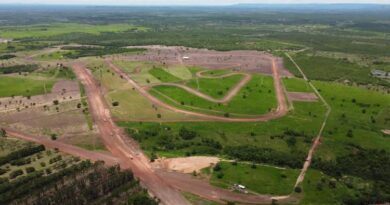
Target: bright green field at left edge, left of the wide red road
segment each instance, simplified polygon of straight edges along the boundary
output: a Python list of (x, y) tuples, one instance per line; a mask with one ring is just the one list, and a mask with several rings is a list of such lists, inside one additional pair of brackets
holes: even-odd
[(0, 76), (0, 97), (40, 95), (50, 92), (53, 85), (53, 80)]

